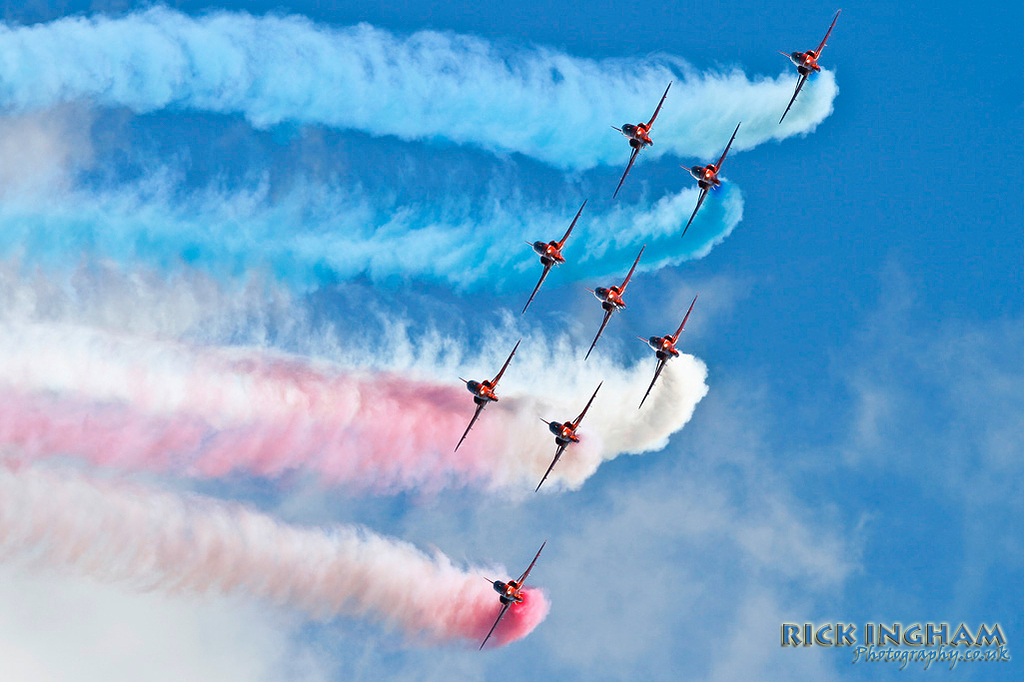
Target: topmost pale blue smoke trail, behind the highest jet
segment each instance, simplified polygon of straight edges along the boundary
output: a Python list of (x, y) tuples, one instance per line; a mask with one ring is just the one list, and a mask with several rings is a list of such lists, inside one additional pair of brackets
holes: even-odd
[(669, 81), (648, 156), (712, 160), (737, 121), (737, 151), (806, 133), (831, 113), (838, 89), (833, 74), (818, 74), (779, 126), (794, 78), (700, 74), (668, 55), (587, 59), (451, 33), (398, 36), (368, 25), (190, 17), (162, 7), (0, 27), (7, 111), (78, 100), (136, 113), (200, 110), (257, 127), (298, 122), (444, 138), (569, 169), (620, 164), (626, 142), (609, 126), (646, 121)]

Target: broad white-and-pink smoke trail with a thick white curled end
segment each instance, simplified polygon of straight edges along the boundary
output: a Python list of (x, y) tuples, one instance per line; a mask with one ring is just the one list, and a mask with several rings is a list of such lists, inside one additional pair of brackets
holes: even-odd
[[(604, 381), (583, 442), (549, 485), (579, 487), (602, 461), (664, 446), (707, 392), (707, 371), (669, 364), (643, 411), (652, 367), (592, 361), (550, 383), (552, 368), (520, 349), (458, 452), (472, 396), (452, 370), (444, 384), (257, 350), (194, 348), (79, 327), (12, 325), (0, 334), (0, 444), (28, 456), (220, 476), (315, 472), (380, 492), (445, 485), (531, 489), (554, 442), (538, 417), (572, 419)], [(521, 358), (520, 358), (521, 356)], [(495, 363), (496, 367), (500, 360)], [(530, 367), (532, 365), (534, 367)], [(564, 368), (555, 368), (555, 370)], [(588, 374), (589, 373), (589, 374)], [(436, 369), (419, 376), (440, 374)], [(507, 382), (507, 383), (506, 383)], [(549, 382), (549, 383), (545, 383)]]

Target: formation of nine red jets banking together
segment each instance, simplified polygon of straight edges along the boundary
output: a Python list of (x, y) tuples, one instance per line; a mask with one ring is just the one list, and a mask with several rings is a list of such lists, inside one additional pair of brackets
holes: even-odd
[[(825, 43), (828, 40), (828, 36), (831, 35), (831, 31), (836, 27), (836, 22), (839, 19), (841, 11), (842, 10), (836, 12), (836, 16), (833, 17), (831, 25), (828, 27), (828, 31), (825, 33), (825, 37), (821, 40), (821, 43), (817, 46), (816, 49), (808, 50), (806, 52), (793, 52), (788, 54), (785, 52), (781, 52), (783, 56), (788, 57), (794, 62), (794, 65), (796, 65), (797, 73), (800, 78), (797, 81), (797, 87), (793, 93), (793, 97), (790, 99), (790, 102), (786, 105), (785, 111), (782, 112), (782, 117), (778, 121), (779, 125), (781, 125), (782, 121), (785, 119), (785, 116), (790, 113), (790, 110), (793, 108), (793, 103), (797, 100), (797, 96), (800, 94), (800, 91), (804, 87), (804, 84), (807, 82), (807, 79), (812, 74), (821, 71), (821, 68), (818, 66), (818, 58), (821, 56), (821, 51), (825, 47)], [(669, 96), (669, 90), (671, 88), (672, 88), (672, 82), (670, 82), (669, 85), (665, 88), (665, 92), (662, 94), (662, 99), (658, 101), (657, 106), (654, 109), (654, 114), (650, 117), (650, 120), (647, 121), (646, 123), (643, 122), (637, 124), (625, 123), (621, 128), (611, 126), (614, 130), (618, 131), (624, 136), (626, 136), (627, 139), (629, 139), (631, 148), (629, 163), (626, 165), (626, 170), (623, 172), (623, 175), (618, 180), (618, 184), (615, 186), (615, 190), (611, 195), (612, 200), (614, 200), (618, 196), (618, 191), (620, 189), (623, 188), (623, 183), (626, 181), (626, 176), (629, 175), (630, 170), (633, 168), (633, 165), (636, 162), (640, 152), (654, 144), (654, 141), (653, 139), (651, 139), (650, 136), (651, 129), (654, 126), (654, 122), (657, 119), (657, 115), (662, 111), (662, 106), (665, 104), (666, 98)], [(729, 141), (725, 145), (725, 150), (722, 152), (722, 156), (719, 157), (716, 163), (708, 164), (706, 166), (693, 166), (689, 168), (687, 168), (686, 166), (682, 166), (682, 168), (689, 171), (693, 179), (696, 180), (697, 187), (700, 189), (700, 191), (697, 195), (697, 203), (696, 206), (693, 208), (693, 213), (690, 214), (690, 219), (686, 222), (686, 226), (683, 228), (681, 237), (686, 236), (686, 231), (689, 229), (690, 224), (692, 224), (693, 219), (696, 217), (697, 211), (700, 210), (700, 206), (701, 204), (703, 204), (705, 199), (707, 199), (708, 194), (711, 190), (717, 189), (722, 185), (722, 180), (719, 179), (719, 173), (722, 170), (722, 164), (725, 162), (726, 156), (729, 154), (729, 150), (732, 147), (732, 143), (736, 139), (736, 134), (739, 132), (739, 126), (740, 123), (737, 123), (735, 130), (732, 131), (732, 137), (729, 138)], [(583, 203), (583, 206), (580, 207), (580, 210), (577, 211), (575, 217), (572, 218), (572, 222), (569, 223), (568, 229), (565, 230), (565, 235), (562, 237), (560, 241), (526, 243), (541, 257), (541, 264), (544, 266), (544, 270), (541, 273), (540, 281), (537, 283), (537, 286), (534, 287), (534, 291), (530, 293), (529, 298), (526, 300), (526, 305), (523, 306), (522, 312), (520, 314), (526, 313), (527, 308), (529, 308), (530, 303), (534, 302), (534, 298), (537, 296), (538, 291), (540, 291), (541, 285), (544, 284), (544, 281), (548, 276), (548, 273), (551, 271), (551, 268), (555, 265), (559, 265), (565, 262), (565, 257), (562, 254), (562, 249), (565, 247), (565, 243), (569, 239), (569, 235), (572, 233), (572, 228), (575, 227), (577, 222), (580, 220), (580, 216), (583, 213), (583, 210), (586, 206), (587, 202), (585, 201)], [(604, 310), (604, 318), (601, 321), (601, 326), (598, 329), (597, 335), (594, 337), (593, 342), (590, 344), (590, 349), (584, 356), (584, 360), (590, 357), (591, 352), (594, 350), (594, 346), (597, 345), (598, 339), (601, 338), (601, 334), (604, 332), (604, 328), (607, 326), (608, 321), (611, 318), (612, 313), (614, 313), (617, 310), (626, 308), (626, 302), (623, 299), (623, 294), (625, 294), (626, 287), (629, 285), (630, 279), (633, 276), (633, 273), (637, 268), (637, 264), (640, 262), (640, 257), (643, 256), (644, 249), (646, 249), (646, 245), (641, 247), (640, 253), (637, 254), (636, 260), (633, 261), (633, 266), (630, 267), (629, 273), (626, 275), (626, 279), (623, 281), (621, 285), (615, 285), (607, 288), (598, 287), (597, 289), (588, 289), (588, 291), (593, 293), (594, 296), (596, 296), (598, 300), (601, 301), (601, 307)], [(683, 333), (683, 330), (686, 327), (686, 321), (689, 319), (690, 313), (693, 311), (693, 306), (696, 304), (696, 301), (697, 297), (694, 295), (693, 300), (690, 302), (690, 306), (686, 310), (686, 314), (683, 315), (683, 321), (682, 323), (680, 323), (679, 328), (676, 330), (675, 334), (660, 336), (660, 337), (654, 336), (650, 337), (649, 339), (638, 337), (640, 338), (641, 341), (646, 343), (648, 346), (650, 346), (651, 349), (654, 350), (654, 354), (657, 358), (657, 366), (654, 369), (654, 377), (651, 379), (650, 385), (647, 386), (647, 390), (644, 393), (643, 398), (640, 400), (638, 410), (642, 409), (644, 402), (647, 401), (647, 397), (650, 395), (651, 390), (654, 388), (654, 384), (657, 382), (657, 378), (660, 376), (662, 371), (665, 369), (665, 366), (672, 358), (679, 356), (680, 352), (676, 348), (676, 344), (679, 341), (679, 336)], [(494, 379), (481, 382), (466, 381), (465, 379), (462, 379), (462, 381), (466, 384), (466, 388), (469, 390), (470, 393), (473, 394), (473, 400), (476, 403), (476, 411), (473, 413), (473, 417), (469, 422), (469, 426), (466, 427), (466, 431), (463, 433), (462, 438), (460, 438), (458, 444), (456, 445), (456, 450), (459, 450), (463, 441), (465, 441), (466, 436), (469, 435), (470, 429), (473, 428), (473, 425), (476, 423), (476, 420), (480, 417), (480, 413), (483, 411), (483, 408), (486, 407), (489, 402), (498, 400), (498, 396), (495, 394), (495, 388), (498, 385), (498, 381), (502, 378), (502, 375), (505, 374), (505, 370), (508, 369), (509, 364), (512, 361), (512, 357), (515, 355), (515, 352), (518, 349), (518, 347), (519, 347), (519, 341), (516, 342), (515, 347), (513, 347), (512, 352), (508, 356), (508, 359), (505, 360), (505, 365), (502, 366), (502, 369), (498, 372), (498, 374), (495, 376)], [(577, 431), (580, 428), (580, 424), (581, 422), (583, 422), (584, 417), (587, 415), (587, 411), (590, 410), (591, 404), (593, 404), (594, 399), (597, 397), (598, 391), (601, 390), (602, 384), (603, 382), (601, 384), (598, 384), (597, 388), (594, 390), (593, 395), (590, 396), (590, 399), (587, 401), (586, 407), (584, 407), (583, 412), (581, 412), (580, 415), (572, 421), (549, 422), (547, 420), (541, 419), (542, 422), (547, 424), (548, 429), (551, 431), (551, 433), (554, 434), (556, 450), (554, 458), (551, 460), (551, 464), (548, 466), (547, 471), (544, 473), (544, 477), (541, 478), (541, 481), (537, 484), (535, 493), (539, 492), (541, 489), (541, 486), (544, 485), (544, 481), (548, 479), (548, 475), (551, 474), (552, 469), (554, 469), (555, 465), (558, 464), (558, 460), (562, 457), (562, 455), (565, 453), (568, 446), (580, 442), (581, 437)], [(529, 566), (526, 568), (525, 571), (523, 571), (523, 573), (519, 577), (518, 580), (514, 581), (510, 580), (508, 583), (503, 583), (501, 581), (492, 582), (489, 579), (486, 579), (488, 583), (493, 583), (495, 591), (498, 592), (499, 594), (499, 602), (501, 604), (501, 609), (498, 612), (498, 617), (495, 620), (494, 625), (490, 627), (490, 631), (487, 633), (486, 637), (484, 637), (483, 641), (480, 643), (481, 649), (483, 648), (483, 645), (487, 643), (487, 640), (490, 639), (490, 636), (494, 634), (495, 629), (498, 627), (498, 624), (501, 622), (502, 617), (504, 617), (506, 611), (508, 611), (508, 609), (513, 605), (520, 604), (523, 602), (524, 600), (522, 592), (523, 584), (526, 581), (526, 577), (529, 574), (529, 571), (532, 570), (534, 565), (537, 563), (538, 558), (540, 558), (541, 552), (544, 550), (545, 545), (547, 545), (547, 541), (545, 541), (544, 544), (541, 545), (541, 549), (538, 550), (537, 555), (534, 557), (534, 560), (530, 562)]]

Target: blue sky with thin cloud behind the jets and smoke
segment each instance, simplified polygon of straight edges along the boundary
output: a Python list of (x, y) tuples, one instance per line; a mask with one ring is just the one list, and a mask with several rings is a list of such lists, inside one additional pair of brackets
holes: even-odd
[[(4, 7), (4, 19), (131, 10), (130, 3), (59, 3), (57, 13), (48, 13), (37, 4)], [(700, 72), (737, 67), (771, 78), (787, 69), (777, 50), (816, 45), (836, 9), (748, 2), (643, 12), (612, 3), (537, 2), (169, 6), (190, 14), (299, 13), (338, 27), (366, 22), (399, 35), (452, 31), (501, 49), (550, 46), (578, 57), (644, 61), (671, 54)], [(367, 497), (301, 476), (275, 483), (161, 481), (247, 500), (296, 523), (366, 524), (457, 560), (514, 567), (548, 538), (536, 580), (548, 590), (552, 612), (525, 640), (483, 654), (423, 649), (356, 620), (305, 623), (288, 609), (254, 606), (244, 595), (182, 605), (67, 576), (50, 587), (78, 608), (118, 604), (116, 624), (97, 620), (92, 628), (137, 629), (143, 651), (178, 631), (229, 623), (216, 628), (232, 633), (216, 648), (220, 658), (245, 662), (245, 669), (227, 667), (239, 679), (920, 674), (851, 666), (846, 651), (780, 649), (779, 624), (805, 620), (999, 623), (1015, 653), (1024, 568), (1021, 19), (1024, 10), (1013, 3), (843, 7), (822, 57), (839, 88), (834, 113), (806, 135), (730, 155), (724, 175), (742, 193), (742, 220), (706, 257), (641, 273), (631, 285), (629, 310), (601, 342), (605, 354), (624, 361), (645, 358), (632, 337), (670, 331), (700, 293), (684, 343), (708, 365), (710, 391), (664, 451), (620, 457), (581, 489), (538, 500), (476, 491)], [(670, 94), (666, 106), (672, 104)], [(385, 207), (425, 195), (431, 210), (454, 202), (460, 217), (478, 204), (486, 214), (494, 202), (510, 213), (525, 206), (564, 216), (554, 219), (551, 237), (532, 238), (555, 239), (582, 198), (593, 197), (584, 230), (591, 210), (610, 210), (601, 193), (621, 173), (617, 164), (563, 172), (442, 138), (397, 140), (315, 123), (254, 128), (238, 114), (173, 108), (136, 114), (88, 98), (17, 116), (55, 121), (44, 127), (60, 131), (68, 144), (74, 191), (151, 183), (145, 187), (158, 189), (142, 193), (151, 206), (187, 203), (210, 186), (226, 195), (259, 187), (268, 201), (309, 183), (315, 193), (357, 186)], [(655, 140), (656, 133), (655, 127)], [(641, 158), (623, 202), (643, 210), (689, 187), (679, 164), (712, 160)], [(45, 199), (52, 186), (44, 184)], [(18, 207), (24, 195), (8, 193), (5, 208)], [(582, 250), (585, 235), (570, 247)], [(520, 238), (511, 235), (509, 242)], [(630, 244), (622, 250), (631, 251)], [(38, 242), (22, 248), (5, 256), (41, 262), (55, 281), (81, 262), (46, 260)], [(153, 253), (176, 262), (180, 247), (163, 248)], [(129, 251), (124, 262), (135, 262), (138, 251)], [(487, 252), (474, 258), (481, 253)], [(88, 258), (110, 255), (100, 249)], [(229, 288), (246, 265), (211, 271)], [(174, 267), (167, 270), (173, 276)], [(559, 274), (549, 278), (530, 318), (515, 329), (564, 329), (587, 345), (598, 314), (583, 287), (598, 282)], [(269, 279), (289, 281), (280, 270)], [(398, 318), (414, 337), (440, 330), (472, 348), (508, 324), (507, 311), (521, 307), (530, 286), (453, 286), (397, 269), (355, 276), (318, 270), (313, 281), (294, 293), (306, 315), (298, 334), (271, 314), (268, 322), (242, 315), (233, 327), (225, 323), (229, 332), (191, 327), (181, 336), (214, 343), (259, 337), (312, 354), (315, 344), (302, 330), (316, 329), (341, 346), (367, 346), (387, 329), (382, 318)], [(507, 535), (507, 524), (516, 530)], [(36, 579), (5, 570), (8, 591), (42, 589)], [(30, 587), (17, 589), (24, 585)], [(154, 623), (155, 612), (167, 613), (170, 625)], [(45, 619), (37, 623), (41, 631), (50, 627)], [(45, 632), (19, 636), (25, 650), (45, 646)], [(84, 637), (63, 635), (69, 647), (84, 646)], [(271, 644), (255, 651), (249, 638)], [(182, 665), (211, 674), (211, 659), (197, 646)], [(87, 665), (81, 679), (100, 675), (104, 665)], [(999, 668), (962, 665), (950, 674), (1002, 679), (1016, 670), (1015, 658)]]

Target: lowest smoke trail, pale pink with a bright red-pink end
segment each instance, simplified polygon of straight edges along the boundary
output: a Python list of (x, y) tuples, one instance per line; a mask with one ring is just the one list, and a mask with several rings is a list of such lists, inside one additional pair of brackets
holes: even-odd
[[(365, 528), (296, 527), (239, 505), (3, 466), (0, 558), (145, 589), (247, 592), (316, 619), (366, 617), (428, 644), (482, 641), (500, 604), (480, 577), (508, 574), (463, 570), (440, 552)], [(544, 592), (526, 594), (497, 644), (525, 637), (547, 615)]]

